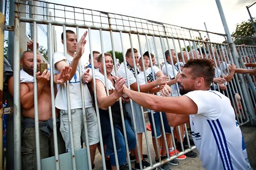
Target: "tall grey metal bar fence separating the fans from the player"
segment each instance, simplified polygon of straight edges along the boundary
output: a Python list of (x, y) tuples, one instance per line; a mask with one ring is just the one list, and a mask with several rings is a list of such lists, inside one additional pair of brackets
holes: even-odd
[[(50, 74), (51, 74), (51, 105), (52, 105), (52, 122), (53, 122), (53, 137), (54, 137), (54, 144), (55, 144), (55, 157), (53, 160), (47, 160), (46, 162), (42, 163), (41, 157), (40, 157), (40, 127), (38, 119), (38, 103), (37, 100), (37, 81), (36, 81), (36, 69), (33, 70), (34, 75), (34, 98), (35, 98), (35, 129), (36, 129), (36, 155), (37, 155), (37, 169), (44, 169), (47, 164), (54, 164), (55, 169), (62, 169), (63, 166), (71, 167), (72, 169), (80, 169), (80, 168), (88, 168), (92, 169), (91, 166), (91, 157), (90, 157), (90, 149), (86, 149), (86, 152), (78, 153), (75, 151), (74, 144), (73, 144), (73, 138), (71, 137), (71, 154), (64, 153), (67, 155), (66, 157), (62, 157), (61, 154), (58, 154), (58, 139), (57, 139), (57, 124), (56, 124), (56, 111), (55, 111), (55, 84), (53, 82), (53, 52), (56, 51), (56, 46), (60, 47), (61, 45), (58, 45), (56, 41), (61, 42), (61, 39), (55, 39), (55, 34), (63, 34), (63, 51), (65, 56), (67, 56), (67, 39), (66, 39), (66, 30), (72, 29), (76, 32), (77, 39), (80, 39), (81, 33), (85, 30), (88, 31), (88, 35), (86, 37), (87, 43), (86, 43), (86, 49), (85, 53), (90, 53), (91, 56), (93, 56), (92, 51), (95, 51), (95, 47), (99, 46), (100, 43), (100, 49), (101, 53), (103, 53), (103, 63), (105, 65), (105, 55), (104, 52), (106, 51), (112, 51), (113, 52), (113, 61), (114, 61), (114, 72), (117, 75), (119, 65), (116, 63), (116, 55), (115, 51), (121, 51), (122, 57), (124, 59), (124, 67), (127, 70), (127, 67), (129, 64), (127, 64), (126, 61), (126, 49), (128, 48), (137, 48), (139, 56), (142, 56), (145, 51), (148, 51), (149, 53), (153, 53), (156, 58), (157, 67), (161, 69), (161, 67), (168, 67), (168, 64), (171, 64), (171, 67), (177, 68), (178, 72), (181, 72), (182, 63), (185, 63), (185, 61), (189, 58), (211, 58), (214, 59), (215, 67), (219, 70), (216, 72), (216, 77), (228, 77), (227, 78), (227, 84), (225, 84), (225, 87), (227, 88), (225, 91), (221, 91), (221, 89), (225, 88), (223, 87), (223, 84), (215, 83), (213, 84), (212, 88), (216, 89), (218, 91), (221, 91), (222, 93), (226, 94), (230, 101), (232, 102), (232, 105), (235, 110), (235, 115), (238, 123), (241, 125), (247, 123), (250, 121), (250, 119), (255, 115), (253, 113), (248, 113), (248, 107), (253, 106), (255, 108), (255, 89), (252, 89), (252, 86), (249, 86), (248, 89), (246, 89), (246, 93), (249, 93), (250, 98), (244, 98), (243, 93), (245, 93), (244, 89), (240, 87), (240, 84), (245, 83), (246, 81), (249, 81), (254, 84), (255, 87), (255, 77), (250, 76), (254, 75), (255, 71), (252, 68), (244, 68), (244, 69), (238, 69), (237, 73), (246, 73), (246, 77), (243, 76), (243, 79), (239, 79), (237, 76), (237, 73), (234, 74), (230, 72), (229, 64), (233, 63), (233, 56), (232, 53), (229, 51), (228, 44), (222, 43), (225, 41), (225, 36), (222, 34), (212, 34), (211, 40), (203, 40), (202, 34), (206, 32), (194, 30), (194, 29), (188, 29), (188, 28), (181, 28), (178, 26), (173, 26), (170, 24), (164, 24), (159, 23), (155, 21), (149, 21), (147, 19), (141, 19), (141, 18), (134, 18), (129, 16), (122, 16), (119, 14), (114, 13), (107, 13), (107, 12), (101, 12), (101, 11), (92, 11), (90, 9), (83, 9), (78, 7), (70, 7), (70, 6), (63, 6), (61, 4), (56, 3), (48, 3), (48, 2), (42, 2), (42, 1), (32, 1), (27, 3), (26, 1), (21, 1), (19, 3), (16, 3), (16, 18), (14, 20), (14, 169), (21, 169), (21, 145), (22, 145), (22, 138), (21, 138), (21, 105), (20, 105), (20, 82), (19, 82), (19, 56), (20, 56), (20, 36), (23, 34), (20, 29), (21, 23), (32, 23), (33, 27), (31, 28), (31, 32), (33, 33), (33, 41), (38, 42), (38, 27), (47, 26), (47, 47), (48, 47), (48, 61), (50, 63)], [(25, 7), (25, 8), (24, 8)], [(27, 9), (29, 7), (31, 10), (29, 10), (29, 13), (26, 11), (23, 11), (23, 9)], [(31, 17), (22, 17), (22, 14), (26, 14)], [(60, 28), (61, 29), (58, 29)], [(60, 32), (55, 32), (53, 30), (61, 30)], [(208, 35), (209, 36), (209, 32)], [(218, 39), (216, 41), (213, 41), (213, 39)], [(39, 42), (40, 43), (40, 42)], [(33, 49), (36, 49), (36, 43), (33, 44)], [(243, 59), (244, 62), (254, 62), (256, 58), (256, 46), (237, 46), (239, 56)], [(171, 49), (174, 50), (174, 53), (171, 53)], [(165, 58), (165, 51), (168, 50), (169, 54), (171, 54), (171, 61), (168, 63)], [(196, 51), (198, 50), (198, 51)], [(36, 58), (36, 51), (33, 52), (33, 60), (37, 61)], [(174, 57), (176, 56), (176, 58)], [(136, 67), (136, 58), (135, 54), (132, 50), (132, 58), (133, 58), (133, 64), (134, 69), (137, 69)], [(153, 68), (152, 58), (150, 57), (150, 66)], [(81, 59), (82, 60), (82, 59)], [(84, 62), (84, 61), (82, 61)], [(93, 58), (91, 57), (91, 63), (93, 68)], [(142, 59), (142, 63), (143, 59)], [(34, 62), (33, 68), (36, 68), (37, 64)], [(85, 64), (79, 64), (78, 70), (78, 81), (80, 81), (82, 76), (83, 67), (85, 67)], [(237, 66), (240, 67), (240, 66)], [(132, 67), (131, 67), (132, 68)], [(95, 102), (95, 111), (97, 115), (97, 128), (99, 128), (99, 134), (101, 134), (101, 129), (105, 127), (101, 127), (100, 124), (100, 113), (99, 113), (99, 106), (97, 103), (97, 92), (96, 92), (96, 80), (95, 80), (95, 69), (91, 69), (92, 72), (92, 82), (93, 82), (93, 96), (94, 96), (94, 102)], [(106, 67), (104, 67), (105, 72), (105, 84), (107, 89), (107, 79), (106, 79)], [(153, 72), (153, 71), (152, 71)], [(175, 72), (174, 78), (176, 77)], [(167, 72), (168, 76), (170, 78), (171, 75)], [(250, 74), (250, 75), (249, 75)], [(243, 74), (245, 75), (245, 74)], [(137, 72), (135, 72), (136, 77), (136, 83), (137, 88), (140, 91), (139, 87), (139, 80), (137, 79)], [(126, 72), (126, 78), (127, 83), (129, 84), (129, 81), (131, 79), (129, 76), (127, 76)], [(153, 79), (155, 80), (155, 75), (153, 72)], [(147, 83), (147, 82), (145, 82)], [(71, 121), (71, 100), (69, 95), (69, 91), (71, 90), (69, 88), (69, 82), (66, 83), (66, 91), (67, 91), (67, 110), (68, 110), (68, 121), (69, 121), (69, 132), (70, 136), (72, 136), (72, 124), (75, 122)], [(64, 87), (63, 85), (61, 85)], [(88, 142), (88, 131), (87, 131), (87, 120), (86, 120), (86, 107), (85, 107), (85, 101), (84, 101), (84, 95), (85, 92), (83, 91), (83, 86), (85, 84), (80, 81), (80, 89), (81, 89), (81, 101), (82, 101), (82, 112), (83, 112), (83, 124), (85, 128), (85, 136), (86, 141), (85, 146), (86, 148), (90, 148), (89, 142)], [(129, 88), (130, 84), (128, 85)], [(220, 87), (221, 86), (221, 87)], [(172, 86), (173, 89), (176, 89), (176, 91), (179, 92), (178, 84), (174, 84)], [(78, 95), (78, 94), (77, 94)], [(175, 94), (171, 94), (171, 96), (174, 96)], [(109, 93), (107, 91), (107, 96), (109, 96)], [(178, 93), (179, 96), (179, 93)], [(119, 103), (121, 103), (121, 98), (119, 99)], [(250, 102), (251, 105), (248, 105), (247, 102)], [(132, 106), (132, 101), (130, 101), (130, 104)], [(120, 106), (122, 106), (120, 104)], [(250, 108), (252, 109), (252, 108)], [(154, 153), (152, 155), (150, 148), (152, 148), (152, 143), (149, 139), (149, 136), (147, 136), (147, 120), (144, 117), (144, 108), (140, 107), (140, 112), (134, 111), (134, 106), (131, 107), (131, 115), (132, 115), (132, 122), (136, 122), (135, 114), (141, 114), (142, 115), (142, 123), (145, 131), (145, 144), (146, 144), (146, 151), (149, 156), (149, 163), (150, 167), (147, 167), (146, 169), (155, 169), (156, 167), (162, 166), (166, 162), (170, 162), (176, 157), (181, 156), (184, 153), (188, 153), (191, 150), (195, 149), (195, 146), (191, 146), (189, 142), (189, 132), (187, 130), (186, 124), (185, 124), (185, 131), (180, 132), (179, 129), (179, 138), (183, 136), (183, 133), (185, 133), (186, 139), (188, 141), (188, 148), (184, 150), (184, 146), (181, 143), (182, 151), (178, 155), (169, 156), (167, 154), (167, 158), (165, 161), (161, 161), (158, 163), (154, 163), (152, 161), (152, 157), (154, 158)], [(120, 112), (122, 113), (122, 107), (120, 107)], [(151, 116), (153, 115), (152, 112), (150, 112)], [(255, 114), (255, 113), (254, 113)], [(115, 144), (115, 133), (114, 133), (114, 124), (112, 121), (112, 112), (111, 108), (109, 107), (109, 115), (110, 115), (110, 126), (111, 126), (111, 132), (112, 132), (112, 141), (114, 146), (114, 153), (115, 153), (115, 161), (117, 169), (119, 169), (119, 163), (117, 156), (117, 148)], [(122, 114), (121, 114), (122, 115)], [(125, 131), (125, 118), (122, 116), (122, 128), (124, 128), (124, 140), (126, 144), (126, 156), (127, 156), (127, 163), (129, 168), (132, 167), (130, 163), (130, 156), (129, 156), (129, 148), (127, 146), (127, 137), (126, 137), (126, 131)], [(163, 123), (163, 117), (160, 114), (161, 119), (161, 127), (163, 127), (163, 136), (164, 136), (164, 146), (165, 148), (169, 148), (168, 143), (166, 142), (166, 135), (164, 130), (164, 123)], [(154, 117), (152, 117), (152, 121), (154, 122)], [(141, 153), (141, 148), (139, 147), (141, 145), (140, 143), (140, 134), (137, 134), (137, 127), (136, 123), (133, 124), (134, 131), (135, 131), (135, 138), (136, 138), (136, 149), (138, 154)], [(151, 128), (154, 128), (154, 132), (156, 132), (156, 129), (154, 126)], [(171, 128), (171, 140), (173, 141), (173, 146), (175, 148), (175, 139), (173, 134), (173, 127)], [(156, 136), (156, 133), (155, 133)], [(155, 140), (155, 139), (152, 139)], [(182, 141), (182, 139), (181, 139)], [(155, 141), (157, 148), (159, 148), (160, 144)], [(102, 136), (100, 135), (100, 148), (101, 151), (104, 151), (104, 143)], [(166, 150), (168, 153), (168, 150)], [(159, 149), (157, 149), (157, 155), (156, 157), (159, 157)], [(176, 153), (176, 149), (175, 149)], [(80, 159), (79, 156), (83, 156), (84, 158), (87, 158), (87, 164), (81, 164), (78, 163), (77, 159)], [(66, 164), (65, 164), (66, 162)], [(140, 162), (140, 168), (142, 168), (141, 164), (141, 157), (139, 157)], [(67, 165), (68, 163), (71, 163)], [(53, 168), (53, 167), (51, 167)], [(105, 164), (105, 156), (102, 154), (102, 168), (106, 169)]]

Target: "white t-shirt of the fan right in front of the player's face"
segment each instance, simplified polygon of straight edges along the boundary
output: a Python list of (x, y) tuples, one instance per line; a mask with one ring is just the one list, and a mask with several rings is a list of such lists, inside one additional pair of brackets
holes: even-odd
[[(175, 66), (174, 66), (175, 67)], [(164, 66), (162, 67), (162, 71), (165, 75), (169, 75), (170, 79), (173, 79), (175, 78), (175, 76), (177, 76), (178, 74), (178, 68), (173, 68), (173, 66), (171, 66), (170, 63), (167, 63), (167, 71), (168, 71), (168, 74), (167, 74), (167, 71), (166, 71), (166, 67), (165, 67), (165, 64)], [(175, 76), (174, 76), (175, 75)], [(173, 92), (173, 97), (176, 97), (176, 96), (179, 96), (178, 94), (178, 90), (177, 90), (177, 86), (176, 86), (176, 83), (171, 85), (171, 91)]]

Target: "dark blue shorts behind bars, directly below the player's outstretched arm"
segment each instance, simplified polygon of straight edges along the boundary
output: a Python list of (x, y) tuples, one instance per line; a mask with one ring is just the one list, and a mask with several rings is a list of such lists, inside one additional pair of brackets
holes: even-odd
[[(150, 126), (151, 126), (151, 135), (153, 138), (155, 138), (155, 133), (154, 133), (154, 125), (155, 125), (155, 128), (156, 128), (156, 136), (157, 138), (160, 138), (161, 137), (161, 119), (160, 119), (160, 112), (153, 112), (153, 115), (154, 115), (154, 122), (155, 124), (153, 124), (152, 122), (152, 117), (151, 117), (151, 113), (150, 112), (147, 112), (149, 114), (149, 122), (150, 122)], [(165, 130), (165, 133), (171, 133), (171, 128), (169, 126), (169, 123), (168, 123), (168, 119), (165, 115), (165, 112), (162, 112), (162, 118), (163, 118), (163, 122), (164, 122), (164, 130)]]

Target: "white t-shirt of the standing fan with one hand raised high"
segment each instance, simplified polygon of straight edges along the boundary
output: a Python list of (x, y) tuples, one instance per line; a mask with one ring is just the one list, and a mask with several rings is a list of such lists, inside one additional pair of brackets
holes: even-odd
[[(68, 62), (68, 65), (71, 64), (73, 57), (67, 54), (67, 58), (64, 56), (64, 53), (56, 52), (53, 54), (53, 64), (56, 64), (59, 61), (65, 60)], [(82, 68), (82, 73), (85, 70)], [(90, 71), (91, 72), (91, 71)], [(54, 67), (54, 74), (59, 74), (60, 72)], [(90, 73), (91, 74), (91, 73)], [(82, 76), (82, 75), (81, 75)], [(79, 76), (79, 68), (77, 67), (77, 71), (71, 81), (69, 81), (70, 87), (70, 103), (71, 109), (82, 108), (82, 97), (81, 97), (81, 88), (80, 88), (80, 76)], [(84, 99), (85, 99), (85, 107), (92, 107), (92, 98), (87, 87), (86, 83), (82, 84)], [(58, 109), (67, 110), (67, 90), (66, 83), (61, 84), (58, 88), (57, 95), (55, 98), (55, 106)]]

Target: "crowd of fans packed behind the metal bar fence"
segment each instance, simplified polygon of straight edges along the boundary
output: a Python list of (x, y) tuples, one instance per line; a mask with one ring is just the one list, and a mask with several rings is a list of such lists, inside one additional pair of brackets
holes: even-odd
[[(113, 58), (110, 53), (101, 54), (93, 51), (93, 55), (89, 55), (88, 68), (82, 68), (82, 75), (80, 76), (78, 63), (85, 50), (87, 32), (77, 42), (75, 32), (67, 30), (61, 36), (63, 44), (64, 35), (66, 35), (67, 56), (63, 52), (53, 54), (56, 107), (54, 114), (57, 117), (58, 154), (76, 151), (84, 146), (83, 143), (88, 142), (92, 169), (95, 167), (97, 148), (105, 157), (107, 169), (117, 169), (117, 165), (119, 169), (129, 169), (126, 149), (129, 149), (130, 161), (135, 162), (135, 169), (144, 169), (150, 166), (150, 163), (146, 161), (148, 156), (143, 154), (142, 150), (142, 136), (143, 134), (147, 135), (145, 133), (144, 112), (142, 112), (141, 104), (131, 101), (129, 95), (124, 93), (124, 88), (129, 87), (132, 91), (151, 93), (154, 96), (179, 97), (181, 96), (179, 79), (185, 75), (181, 72), (183, 72), (183, 68), (188, 67), (186, 63), (191, 59), (208, 59), (215, 68), (214, 78), (210, 84), (211, 90), (220, 91), (225, 96), (233, 98), (232, 106), (235, 112), (239, 113), (241, 97), (237, 91), (228, 87), (228, 82), (232, 81), (235, 73), (249, 73), (250, 76), (256, 74), (255, 63), (247, 63), (251, 67), (248, 69), (237, 68), (227, 56), (223, 56), (215, 48), (209, 52), (206, 51), (206, 53), (204, 50), (195, 49), (177, 53), (174, 49), (168, 49), (165, 51), (166, 63), (159, 64), (160, 68), (156, 66), (154, 54), (146, 51), (142, 56), (139, 56), (137, 49), (129, 48), (125, 54), (125, 61), (120, 64), (117, 73), (114, 71)], [(33, 43), (33, 41), (29, 41), (28, 48), (30, 50), (21, 55), (20, 99), (23, 116), (23, 169), (36, 169)], [(91, 57), (93, 63), (91, 63)], [(42, 159), (54, 156), (55, 146), (53, 145), (51, 77), (47, 69), (43, 72), (39, 71), (40, 63), (42, 63), (42, 59), (37, 54), (36, 83), (38, 119), (40, 121), (40, 156)], [(92, 76), (92, 69), (94, 69), (95, 77)], [(96, 84), (93, 84), (93, 78), (95, 78)], [(122, 81), (124, 78), (125, 81)], [(69, 84), (68, 90), (66, 82)], [(95, 89), (93, 88), (94, 85)], [(9, 79), (8, 87), (13, 95), (13, 77)], [(83, 94), (81, 94), (81, 88)], [(68, 92), (70, 100), (67, 98)], [(94, 93), (96, 93), (97, 103), (94, 103)], [(121, 102), (119, 102), (120, 98)], [(237, 105), (238, 107), (236, 107)], [(97, 121), (96, 106), (99, 107), (100, 122)], [(189, 142), (188, 138), (184, 137), (185, 128), (190, 129), (191, 122), (189, 122), (188, 116), (178, 118), (176, 114), (160, 112), (161, 109), (144, 108), (149, 117), (155, 162), (179, 154), (180, 151), (190, 148), (190, 144), (194, 144), (193, 141)], [(86, 124), (84, 119), (86, 119)], [(98, 123), (100, 123), (101, 132), (99, 132)], [(72, 128), (70, 127), (71, 124)], [(172, 131), (175, 141), (171, 137)], [(181, 137), (179, 137), (179, 132)], [(192, 132), (193, 135), (195, 136)], [(104, 151), (101, 151), (102, 147), (99, 144), (100, 136), (103, 139)], [(165, 143), (168, 148), (166, 148)], [(161, 164), (159, 168), (170, 169), (169, 164), (178, 165), (178, 160), (186, 159), (186, 157), (195, 158), (197, 154), (194, 151), (179, 154), (178, 157), (168, 161), (168, 163)]]

